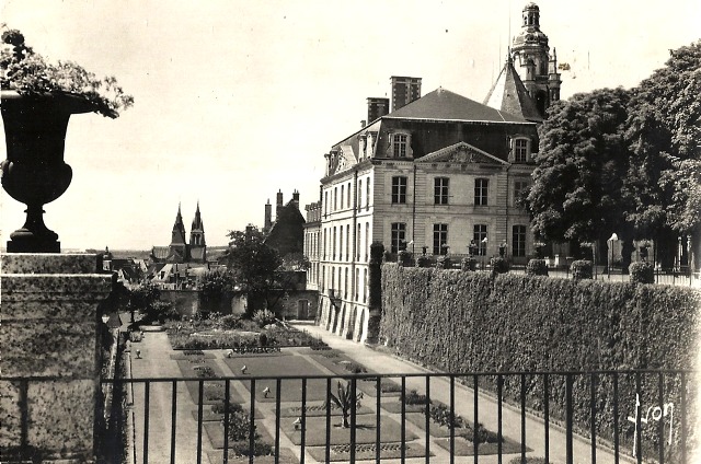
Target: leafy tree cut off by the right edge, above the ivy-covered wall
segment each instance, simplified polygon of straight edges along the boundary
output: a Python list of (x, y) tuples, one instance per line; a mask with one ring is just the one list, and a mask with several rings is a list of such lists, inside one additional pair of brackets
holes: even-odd
[(667, 265), (676, 235), (692, 233), (698, 243), (700, 232), (700, 95), (701, 40), (670, 50), (666, 66), (633, 90), (627, 121), (628, 220), (655, 239)]

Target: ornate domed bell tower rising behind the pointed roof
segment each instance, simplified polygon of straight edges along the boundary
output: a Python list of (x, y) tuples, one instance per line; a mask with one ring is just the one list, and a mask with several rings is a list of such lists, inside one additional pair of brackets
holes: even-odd
[(512, 44), (512, 58), (538, 111), (545, 117), (545, 109), (560, 100), (560, 73), (553, 48), (550, 55), (548, 36), (540, 31), (540, 9), (536, 3), (524, 7), (521, 31)]

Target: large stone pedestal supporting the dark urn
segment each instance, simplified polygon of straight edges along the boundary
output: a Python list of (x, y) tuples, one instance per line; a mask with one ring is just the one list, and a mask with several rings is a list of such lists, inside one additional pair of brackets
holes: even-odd
[(4, 254), (0, 274), (2, 462), (92, 462), (100, 402), (95, 255)]

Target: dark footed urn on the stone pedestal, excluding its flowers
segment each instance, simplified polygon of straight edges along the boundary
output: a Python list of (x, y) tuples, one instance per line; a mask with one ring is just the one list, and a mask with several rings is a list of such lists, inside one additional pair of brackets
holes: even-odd
[(70, 115), (93, 112), (85, 98), (69, 93), (20, 95), (2, 91), (8, 159), (0, 163), (2, 188), (26, 205), (26, 221), (10, 234), (10, 253), (60, 253), (58, 234), (44, 224), (43, 206), (70, 185), (72, 170), (64, 162)]

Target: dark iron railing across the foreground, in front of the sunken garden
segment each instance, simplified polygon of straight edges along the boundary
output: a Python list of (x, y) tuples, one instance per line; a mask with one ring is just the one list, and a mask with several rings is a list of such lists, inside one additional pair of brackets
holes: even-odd
[(129, 434), (143, 463), (689, 463), (694, 437), (691, 371), (103, 382), (134, 392)]

